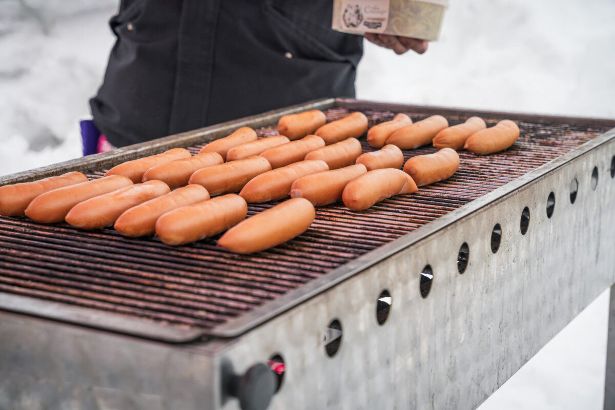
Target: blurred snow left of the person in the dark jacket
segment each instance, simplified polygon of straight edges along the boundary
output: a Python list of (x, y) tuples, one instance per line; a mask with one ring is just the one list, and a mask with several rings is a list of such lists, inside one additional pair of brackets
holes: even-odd
[(113, 45), (115, 1), (26, 4), (0, 0), (0, 175), (81, 156), (76, 120)]

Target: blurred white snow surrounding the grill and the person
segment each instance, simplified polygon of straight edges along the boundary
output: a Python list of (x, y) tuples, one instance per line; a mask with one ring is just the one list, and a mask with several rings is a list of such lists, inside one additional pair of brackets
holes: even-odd
[[(0, 175), (81, 156), (117, 0), (0, 0)], [(452, 1), (424, 55), (366, 44), (363, 100), (615, 118), (615, 1)], [(608, 291), (480, 410), (602, 409)]]

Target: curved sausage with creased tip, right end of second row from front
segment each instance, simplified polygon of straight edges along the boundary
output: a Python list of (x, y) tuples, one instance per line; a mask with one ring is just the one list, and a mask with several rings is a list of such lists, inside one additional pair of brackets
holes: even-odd
[(384, 168), (373, 170), (352, 179), (342, 193), (347, 208), (362, 211), (393, 195), (413, 194), (418, 191), (415, 181), (402, 170)]

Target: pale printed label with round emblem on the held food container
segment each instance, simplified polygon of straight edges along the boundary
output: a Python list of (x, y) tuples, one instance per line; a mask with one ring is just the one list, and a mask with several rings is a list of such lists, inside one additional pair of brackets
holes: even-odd
[(342, 10), (346, 30), (384, 33), (389, 23), (389, 0), (343, 0)]

